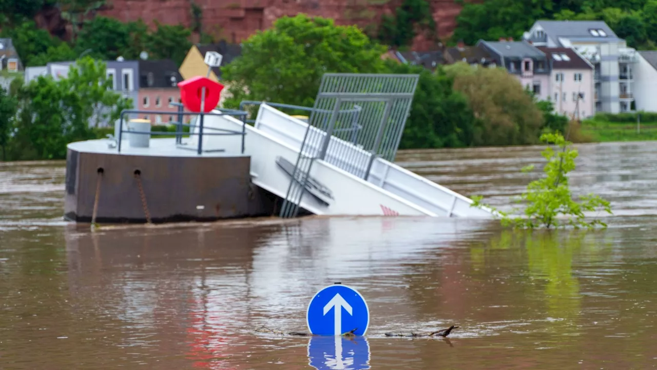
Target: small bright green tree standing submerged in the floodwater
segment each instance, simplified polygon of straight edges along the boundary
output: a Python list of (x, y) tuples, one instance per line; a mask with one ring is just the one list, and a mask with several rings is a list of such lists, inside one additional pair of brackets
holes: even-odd
[[(575, 228), (606, 227), (607, 225), (599, 219), (588, 221), (584, 213), (605, 211), (611, 214), (608, 201), (595, 194), (581, 196), (579, 201), (576, 201), (570, 192), (568, 172), (575, 169), (577, 149), (571, 149), (572, 143), (558, 132), (541, 135), (541, 142), (554, 144), (560, 150), (555, 151), (553, 147), (548, 146), (541, 153), (547, 160), (543, 169), (545, 176), (530, 182), (527, 190), (517, 199), (519, 203), (526, 203), (524, 215), (512, 217), (509, 213), (484, 205), (481, 196), (472, 197), (474, 200), (472, 207), (493, 209), (501, 217), (503, 225), (514, 225), (520, 228), (551, 228), (568, 225)], [(533, 165), (525, 167), (522, 171), (530, 172), (532, 169)], [(566, 222), (559, 222), (562, 217)]]

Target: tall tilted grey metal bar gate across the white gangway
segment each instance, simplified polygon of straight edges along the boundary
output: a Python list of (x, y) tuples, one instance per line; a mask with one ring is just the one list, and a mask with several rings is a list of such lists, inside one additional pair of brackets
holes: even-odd
[[(418, 74), (327, 73), (322, 76), (294, 175), (281, 206), (281, 217), (298, 215), (316, 159), (364, 180), (376, 157), (394, 160), (418, 79)], [(353, 114), (350, 114), (353, 109), (359, 109), (357, 136), (348, 130), (353, 127)], [(369, 157), (365, 159), (340, 145), (331, 147), (327, 157), (332, 136), (369, 151)]]

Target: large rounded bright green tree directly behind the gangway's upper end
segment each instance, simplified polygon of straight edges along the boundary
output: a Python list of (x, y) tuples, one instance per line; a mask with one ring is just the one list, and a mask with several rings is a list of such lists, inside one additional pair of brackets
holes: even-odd
[(311, 107), (325, 72), (381, 72), (384, 51), (355, 26), (306, 14), (279, 18), (223, 68), (232, 95), (225, 105), (254, 99)]

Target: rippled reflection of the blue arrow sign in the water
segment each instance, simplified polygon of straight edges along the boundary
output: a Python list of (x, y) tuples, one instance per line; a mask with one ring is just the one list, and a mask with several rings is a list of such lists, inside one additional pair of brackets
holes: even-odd
[(317, 370), (369, 369), (370, 356), (364, 336), (312, 336), (308, 342), (308, 364)]

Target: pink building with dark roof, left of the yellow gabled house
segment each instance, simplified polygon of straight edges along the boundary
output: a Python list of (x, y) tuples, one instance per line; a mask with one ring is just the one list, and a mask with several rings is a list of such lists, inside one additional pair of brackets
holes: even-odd
[(157, 111), (158, 113), (140, 114), (139, 118), (148, 119), (152, 124), (172, 124), (177, 122), (178, 108), (170, 103), (180, 102), (178, 82), (183, 78), (175, 62), (170, 59), (159, 61), (139, 61), (139, 93), (135, 109)]

